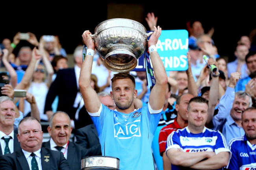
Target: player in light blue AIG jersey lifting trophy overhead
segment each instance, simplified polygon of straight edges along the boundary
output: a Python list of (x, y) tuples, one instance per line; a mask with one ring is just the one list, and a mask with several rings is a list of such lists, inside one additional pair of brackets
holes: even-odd
[(135, 80), (128, 73), (115, 74), (111, 79), (111, 97), (115, 101), (116, 110), (110, 110), (100, 103), (98, 95), (90, 85), (95, 45), (89, 31), (82, 35), (87, 54), (79, 78), (80, 91), (85, 108), (98, 132), (102, 155), (119, 158), (121, 170), (154, 170), (151, 144), (160, 120), (167, 87), (165, 68), (155, 47), (161, 28), (154, 28), (155, 31), (148, 40), (148, 48), (156, 84), (150, 92), (148, 104), (138, 110), (134, 108), (134, 99), (137, 97)]

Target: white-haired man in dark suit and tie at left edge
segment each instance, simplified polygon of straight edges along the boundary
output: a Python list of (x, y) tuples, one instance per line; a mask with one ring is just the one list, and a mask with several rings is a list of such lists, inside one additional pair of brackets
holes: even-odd
[(0, 97), (0, 155), (13, 153), (20, 149), (17, 133), (13, 130), (15, 109), (13, 99), (7, 96)]

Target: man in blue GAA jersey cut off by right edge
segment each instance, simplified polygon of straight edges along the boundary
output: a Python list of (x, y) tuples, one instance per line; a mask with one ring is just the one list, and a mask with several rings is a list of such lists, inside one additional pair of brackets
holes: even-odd
[(230, 170), (256, 169), (256, 108), (247, 108), (242, 113), (242, 127), (245, 135), (229, 143), (232, 157), (227, 168)]

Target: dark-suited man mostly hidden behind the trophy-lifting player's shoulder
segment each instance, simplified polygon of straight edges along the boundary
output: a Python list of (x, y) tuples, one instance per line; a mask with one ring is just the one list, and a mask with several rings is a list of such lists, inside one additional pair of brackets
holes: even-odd
[[(98, 93), (100, 102), (111, 110), (115, 110), (115, 102), (109, 93), (102, 91)], [(76, 131), (76, 143), (87, 148), (91, 156), (102, 155), (98, 132), (94, 124), (87, 125)]]

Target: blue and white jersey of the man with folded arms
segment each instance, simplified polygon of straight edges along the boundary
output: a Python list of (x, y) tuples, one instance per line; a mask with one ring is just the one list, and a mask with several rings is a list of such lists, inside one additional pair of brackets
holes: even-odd
[[(173, 131), (167, 138), (166, 150), (171, 148), (180, 148), (183, 152), (230, 152), (223, 134), (219, 131), (213, 131), (206, 127), (202, 133), (191, 133), (189, 129), (183, 128)], [(231, 157), (231, 154), (230, 154)], [(188, 167), (181, 167), (172, 165), (172, 170), (189, 169)]]

